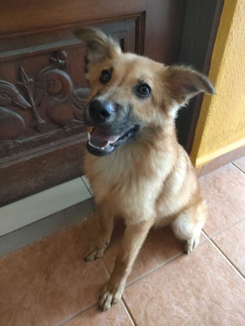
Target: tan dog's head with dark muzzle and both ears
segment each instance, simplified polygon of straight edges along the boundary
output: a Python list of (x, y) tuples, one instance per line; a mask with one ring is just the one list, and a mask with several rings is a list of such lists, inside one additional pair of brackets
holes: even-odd
[(97, 30), (75, 34), (87, 46), (91, 92), (85, 122), (93, 127), (87, 148), (94, 155), (112, 153), (145, 128), (173, 124), (191, 97), (215, 93), (209, 79), (191, 68), (122, 53), (115, 40)]

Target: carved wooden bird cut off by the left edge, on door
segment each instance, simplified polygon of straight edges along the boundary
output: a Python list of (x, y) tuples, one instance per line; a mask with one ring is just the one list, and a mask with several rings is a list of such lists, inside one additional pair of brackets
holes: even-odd
[(20, 143), (17, 139), (26, 130), (23, 118), (10, 110), (9, 106), (20, 107), (22, 110), (31, 108), (13, 84), (0, 80), (0, 149)]

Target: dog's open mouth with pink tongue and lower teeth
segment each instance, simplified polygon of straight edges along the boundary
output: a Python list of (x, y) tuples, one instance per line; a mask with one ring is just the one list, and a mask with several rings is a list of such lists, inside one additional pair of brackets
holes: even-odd
[(134, 126), (122, 135), (108, 135), (99, 127), (93, 128), (91, 133), (88, 133), (87, 149), (97, 156), (104, 156), (112, 153), (116, 147), (133, 137), (138, 126)]

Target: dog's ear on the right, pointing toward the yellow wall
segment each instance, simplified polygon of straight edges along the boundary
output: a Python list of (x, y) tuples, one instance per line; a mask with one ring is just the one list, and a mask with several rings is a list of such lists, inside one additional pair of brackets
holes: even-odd
[(171, 97), (183, 103), (201, 92), (215, 94), (208, 77), (185, 66), (167, 67), (167, 83)]

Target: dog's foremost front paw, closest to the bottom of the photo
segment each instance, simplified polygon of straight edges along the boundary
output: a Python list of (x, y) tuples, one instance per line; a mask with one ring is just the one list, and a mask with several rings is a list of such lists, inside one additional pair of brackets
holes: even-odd
[(99, 297), (99, 311), (103, 312), (114, 306), (121, 298), (123, 289), (105, 286)]

